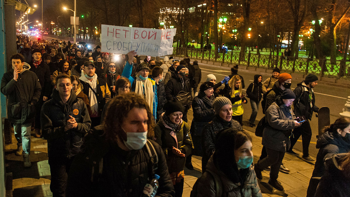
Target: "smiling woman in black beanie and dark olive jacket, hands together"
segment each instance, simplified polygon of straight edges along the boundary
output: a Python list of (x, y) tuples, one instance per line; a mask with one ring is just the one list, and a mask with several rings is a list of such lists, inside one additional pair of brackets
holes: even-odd
[(162, 147), (167, 158), (170, 178), (175, 188), (175, 197), (181, 197), (185, 161), (193, 149), (190, 126), (187, 122), (182, 121), (185, 108), (179, 101), (168, 101), (164, 109), (165, 112), (154, 127), (154, 140)]

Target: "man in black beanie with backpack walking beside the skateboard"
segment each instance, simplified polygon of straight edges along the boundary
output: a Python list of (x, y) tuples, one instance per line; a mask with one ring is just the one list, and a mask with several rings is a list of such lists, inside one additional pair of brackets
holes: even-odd
[(296, 117), (305, 116), (306, 121), (300, 127), (293, 130), (293, 135), (290, 137), (290, 148), (288, 154), (299, 156), (293, 151), (293, 147), (299, 137), (303, 138), (303, 156), (302, 159), (306, 162), (314, 163), (315, 160), (309, 156), (309, 145), (311, 141), (312, 131), (310, 127), (311, 117), (313, 112), (318, 112), (318, 107), (315, 106), (315, 94), (313, 88), (317, 85), (318, 78), (314, 74), (308, 74), (305, 80), (298, 83), (294, 89), (294, 114)]

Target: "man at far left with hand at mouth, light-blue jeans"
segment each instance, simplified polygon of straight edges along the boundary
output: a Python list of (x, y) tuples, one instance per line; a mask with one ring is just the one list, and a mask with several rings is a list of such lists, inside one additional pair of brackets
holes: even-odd
[[(38, 77), (31, 72), (29, 64), (25, 63), (23, 55), (17, 53), (11, 56), (12, 69), (3, 74), (1, 93), (6, 96), (7, 118), (13, 123), (17, 140), (15, 155), (22, 155), (25, 168), (31, 166), (30, 130), (35, 120), (35, 104), (38, 102), (41, 86)], [(23, 149), (22, 149), (23, 148)]]

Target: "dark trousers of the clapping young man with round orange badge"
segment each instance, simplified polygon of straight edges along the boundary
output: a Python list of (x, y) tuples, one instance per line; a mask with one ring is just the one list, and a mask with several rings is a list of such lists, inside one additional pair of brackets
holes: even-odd
[(67, 177), (73, 158), (51, 158), (49, 157), (49, 165), (51, 172), (50, 190), (52, 197), (64, 197), (67, 186)]

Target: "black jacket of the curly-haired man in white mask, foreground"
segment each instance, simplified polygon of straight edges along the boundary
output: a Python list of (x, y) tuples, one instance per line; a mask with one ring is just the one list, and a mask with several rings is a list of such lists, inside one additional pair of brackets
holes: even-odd
[[(146, 146), (140, 150), (122, 150), (104, 135), (103, 126), (94, 127), (84, 137), (82, 151), (74, 159), (68, 176), (66, 197), (130, 196), (139, 197), (152, 180), (153, 163)], [(158, 155), (160, 176), (156, 196), (174, 196), (174, 186), (161, 147), (150, 141)], [(100, 171), (98, 176), (91, 176)], [(91, 180), (92, 178), (92, 180)]]

